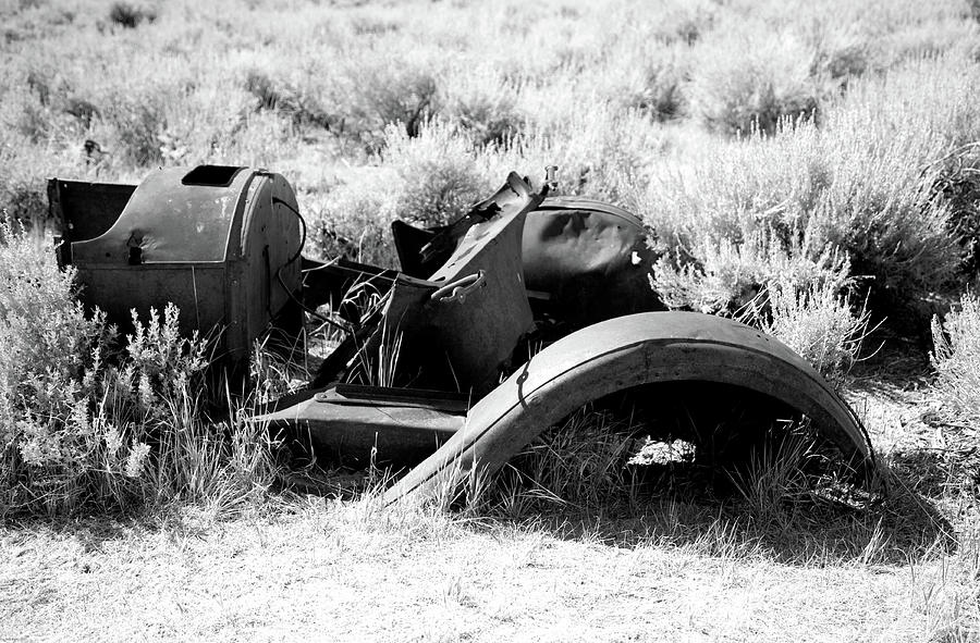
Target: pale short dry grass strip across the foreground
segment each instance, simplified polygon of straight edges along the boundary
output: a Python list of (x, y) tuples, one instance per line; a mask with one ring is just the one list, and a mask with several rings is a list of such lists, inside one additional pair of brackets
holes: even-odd
[[(976, 549), (780, 562), (684, 506), (511, 522), (295, 499), (0, 532), (0, 636), (968, 641)], [(661, 530), (687, 533), (665, 539)]]

